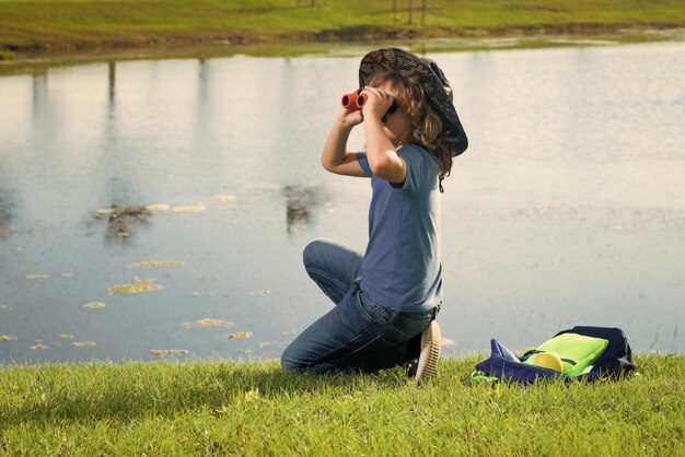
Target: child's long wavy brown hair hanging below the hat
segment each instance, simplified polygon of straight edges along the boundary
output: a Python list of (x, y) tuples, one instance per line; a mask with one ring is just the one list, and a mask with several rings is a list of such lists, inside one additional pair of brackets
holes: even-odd
[(385, 81), (392, 82), (393, 89), (397, 91), (396, 103), (409, 119), (409, 132), (402, 139), (402, 143), (420, 145), (436, 157), (440, 164), (439, 187), (440, 191), (444, 192), (442, 180), (450, 176), (452, 171), (452, 151), (457, 141), (456, 137), (443, 131), (442, 119), (426, 99), (423, 86), (418, 78), (383, 72), (376, 73), (370, 85)]

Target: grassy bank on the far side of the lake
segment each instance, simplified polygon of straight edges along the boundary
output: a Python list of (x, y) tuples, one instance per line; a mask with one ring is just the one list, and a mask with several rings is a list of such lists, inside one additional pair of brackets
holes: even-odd
[[(411, 5), (411, 8), (410, 8)], [(685, 27), (681, 0), (0, 0), (0, 59), (130, 48), (632, 34)]]

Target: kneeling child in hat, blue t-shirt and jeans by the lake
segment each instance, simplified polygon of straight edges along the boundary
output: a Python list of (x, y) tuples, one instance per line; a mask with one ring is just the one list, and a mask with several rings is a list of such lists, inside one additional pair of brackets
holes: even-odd
[[(357, 251), (333, 241), (304, 249), (309, 276), (336, 306), (286, 349), (286, 372), (373, 373), (407, 366), (436, 374), (442, 302), (440, 192), (452, 157), (468, 145), (438, 65), (397, 48), (369, 52), (359, 67), (367, 101), (342, 108), (322, 152), (332, 173), (371, 177), (369, 244)], [(365, 153), (347, 151), (363, 121)]]

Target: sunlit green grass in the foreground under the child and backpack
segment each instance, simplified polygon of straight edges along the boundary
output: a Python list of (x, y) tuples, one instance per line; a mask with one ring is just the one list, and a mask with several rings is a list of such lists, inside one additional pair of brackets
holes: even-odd
[(291, 376), (276, 362), (0, 368), (7, 455), (684, 455), (685, 354), (638, 356), (619, 382), (471, 382), (446, 359), (399, 371)]

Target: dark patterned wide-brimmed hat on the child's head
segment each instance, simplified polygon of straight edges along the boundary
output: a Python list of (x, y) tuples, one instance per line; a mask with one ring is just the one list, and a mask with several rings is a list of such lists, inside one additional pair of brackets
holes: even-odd
[(376, 49), (361, 59), (359, 85), (363, 87), (375, 74), (383, 72), (418, 78), (427, 99), (443, 120), (444, 129), (457, 138), (452, 156), (466, 151), (468, 139), (452, 102), (450, 82), (436, 62), (399, 48)]

